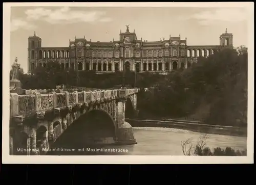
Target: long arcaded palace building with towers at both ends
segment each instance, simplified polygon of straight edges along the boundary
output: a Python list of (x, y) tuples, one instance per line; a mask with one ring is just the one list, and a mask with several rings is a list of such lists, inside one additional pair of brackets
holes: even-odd
[[(132, 70), (166, 73), (179, 68), (188, 68), (198, 57), (208, 57), (215, 51), (233, 45), (233, 35), (223, 33), (220, 45), (187, 45), (187, 38), (171, 37), (160, 41), (137, 39), (135, 31), (120, 31), (119, 40), (92, 42), (76, 38), (67, 47), (42, 47), (41, 38), (28, 38), (28, 72), (38, 65), (46, 66), (49, 61), (58, 61), (62, 68), (95, 70), (98, 73)], [(124, 54), (124, 56), (123, 56)], [(123, 65), (124, 64), (124, 65)]]

